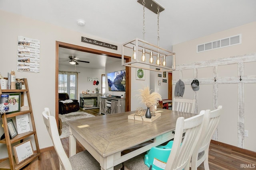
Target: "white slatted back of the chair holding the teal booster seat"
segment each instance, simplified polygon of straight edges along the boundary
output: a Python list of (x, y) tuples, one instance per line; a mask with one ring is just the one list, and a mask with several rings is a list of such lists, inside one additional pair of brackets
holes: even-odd
[[(200, 137), (203, 125), (204, 113), (200, 113), (188, 119), (179, 117), (176, 121), (172, 151), (166, 163), (166, 170), (189, 170), (192, 152)], [(186, 130), (184, 139), (182, 135)]]

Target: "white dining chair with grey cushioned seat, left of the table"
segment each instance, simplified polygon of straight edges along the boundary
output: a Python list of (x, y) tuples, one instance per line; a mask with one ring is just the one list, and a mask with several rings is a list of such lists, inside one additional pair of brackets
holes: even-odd
[[(100, 164), (87, 150), (68, 158), (60, 141), (55, 117), (50, 115), (50, 109), (48, 107), (44, 108), (42, 115), (60, 161), (60, 170), (100, 170)], [(122, 168), (122, 164), (114, 166), (114, 170), (120, 168)]]

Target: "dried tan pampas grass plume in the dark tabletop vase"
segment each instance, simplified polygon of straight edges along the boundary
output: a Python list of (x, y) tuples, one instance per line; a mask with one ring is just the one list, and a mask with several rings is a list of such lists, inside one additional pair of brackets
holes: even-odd
[(149, 87), (145, 87), (144, 89), (139, 89), (138, 91), (140, 92), (140, 94), (137, 94), (136, 96), (147, 107), (151, 107), (155, 105), (158, 106), (159, 101), (162, 101), (162, 96), (159, 93), (152, 92), (150, 94), (151, 90), (149, 90)]

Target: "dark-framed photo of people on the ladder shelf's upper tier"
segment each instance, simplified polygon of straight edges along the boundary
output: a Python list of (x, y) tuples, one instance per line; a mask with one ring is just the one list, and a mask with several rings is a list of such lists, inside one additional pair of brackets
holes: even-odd
[(10, 93), (8, 98), (9, 110), (7, 113), (20, 111), (20, 95), (21, 93)]

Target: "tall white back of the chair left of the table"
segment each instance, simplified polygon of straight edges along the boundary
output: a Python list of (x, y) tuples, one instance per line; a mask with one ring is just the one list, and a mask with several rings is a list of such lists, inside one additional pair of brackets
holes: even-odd
[(46, 125), (47, 131), (52, 139), (54, 149), (56, 150), (56, 153), (59, 157), (60, 170), (72, 170), (72, 166), (70, 164), (68, 156), (66, 155), (66, 152), (60, 141), (60, 136), (55, 117), (50, 115), (49, 108), (44, 108), (42, 115), (44, 118), (44, 124)]

